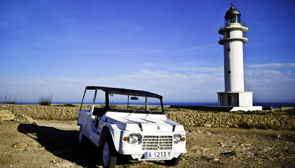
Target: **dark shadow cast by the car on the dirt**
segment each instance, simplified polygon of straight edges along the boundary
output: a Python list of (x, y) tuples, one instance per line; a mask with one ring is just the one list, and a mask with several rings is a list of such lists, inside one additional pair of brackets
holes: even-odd
[[(39, 142), (55, 156), (73, 162), (84, 168), (102, 166), (101, 150), (94, 144), (81, 146), (78, 142), (79, 131), (59, 130), (53, 127), (34, 124), (19, 124), (18, 131)], [(130, 164), (124, 159), (120, 165)]]

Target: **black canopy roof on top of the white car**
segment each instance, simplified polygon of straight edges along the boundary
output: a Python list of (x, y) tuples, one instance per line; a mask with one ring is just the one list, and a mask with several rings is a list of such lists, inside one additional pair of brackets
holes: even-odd
[(124, 88), (114, 88), (114, 87), (102, 87), (102, 86), (86, 86), (87, 90), (95, 90), (100, 89), (108, 93), (117, 93), (117, 94), (128, 94), (135, 96), (148, 96), (155, 98), (163, 98), (161, 95), (154, 94), (148, 91), (143, 90), (132, 90), (132, 89), (124, 89)]

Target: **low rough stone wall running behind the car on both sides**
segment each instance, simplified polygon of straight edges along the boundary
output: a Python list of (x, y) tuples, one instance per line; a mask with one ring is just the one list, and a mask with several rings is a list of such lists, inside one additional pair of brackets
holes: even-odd
[[(78, 107), (1, 104), (0, 110), (9, 110), (16, 117), (23, 114), (33, 119), (76, 120)], [(166, 116), (184, 126), (236, 127), (295, 130), (295, 116), (267, 116), (233, 114), (229, 112), (166, 112)]]

